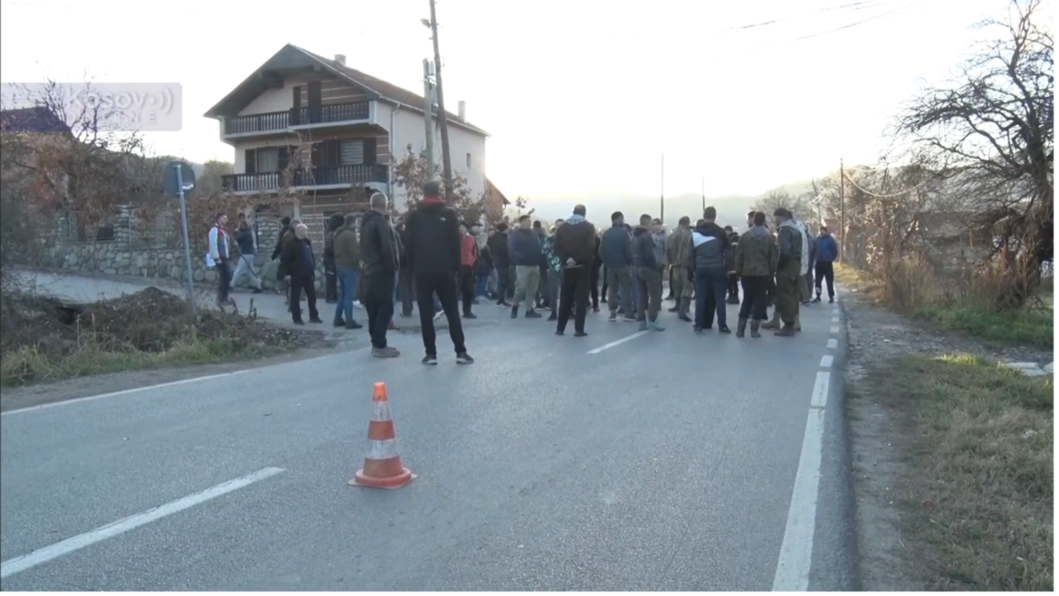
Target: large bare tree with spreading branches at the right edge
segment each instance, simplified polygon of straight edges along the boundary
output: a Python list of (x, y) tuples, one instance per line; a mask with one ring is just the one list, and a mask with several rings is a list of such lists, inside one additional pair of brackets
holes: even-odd
[(1055, 258), (1055, 38), (1035, 21), (1040, 7), (1013, 0), (1007, 20), (980, 23), (1003, 34), (896, 123), (915, 162), (951, 179), (974, 225), (995, 239), (1004, 306), (1023, 305)]

